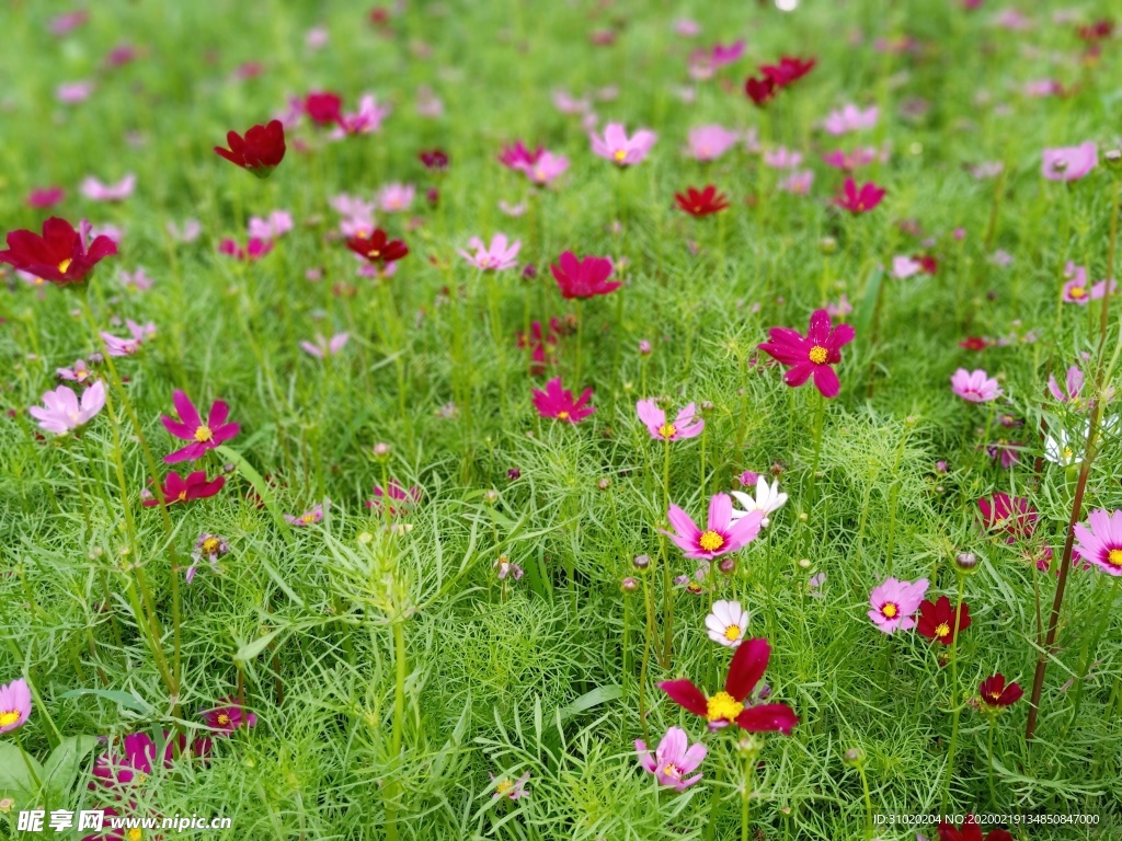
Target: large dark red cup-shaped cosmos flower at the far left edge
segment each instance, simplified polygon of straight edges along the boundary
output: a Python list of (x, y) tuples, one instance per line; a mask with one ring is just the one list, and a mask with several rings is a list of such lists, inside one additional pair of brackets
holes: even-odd
[(83, 220), (75, 231), (66, 220), (52, 216), (43, 223), (42, 237), (12, 231), (0, 262), (61, 286), (80, 284), (100, 260), (117, 253), (117, 243), (109, 237), (96, 237), (86, 247), (90, 228)]

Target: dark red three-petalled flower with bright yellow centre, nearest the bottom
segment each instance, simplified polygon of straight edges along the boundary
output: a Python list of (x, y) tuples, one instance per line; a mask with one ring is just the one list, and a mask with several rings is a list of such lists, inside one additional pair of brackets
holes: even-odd
[(799, 723), (799, 717), (787, 704), (755, 704), (745, 706), (744, 702), (752, 694), (771, 657), (771, 646), (766, 639), (755, 638), (744, 640), (733, 655), (728, 665), (728, 676), (725, 688), (706, 697), (706, 694), (693, 685), (692, 681), (663, 681), (659, 688), (665, 692), (670, 700), (679, 706), (700, 715), (709, 722), (710, 730), (736, 724), (742, 730), (752, 733), (779, 731), (790, 736)]

